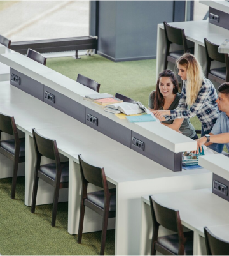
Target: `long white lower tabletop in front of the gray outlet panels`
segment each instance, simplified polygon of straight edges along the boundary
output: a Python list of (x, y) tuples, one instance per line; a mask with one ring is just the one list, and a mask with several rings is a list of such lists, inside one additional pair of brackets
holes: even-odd
[(172, 172), (8, 82), (0, 82), (0, 112), (14, 116), (24, 132), (32, 135), (32, 128), (36, 128), (41, 135), (57, 140), (60, 153), (73, 156), (76, 162), (82, 154), (93, 165), (104, 167), (108, 181), (114, 184), (209, 173), (205, 169)]

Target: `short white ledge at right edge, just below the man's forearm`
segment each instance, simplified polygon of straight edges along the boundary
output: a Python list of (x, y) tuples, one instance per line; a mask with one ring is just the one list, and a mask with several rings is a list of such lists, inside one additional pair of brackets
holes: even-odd
[(229, 181), (229, 157), (223, 154), (200, 156), (199, 165)]

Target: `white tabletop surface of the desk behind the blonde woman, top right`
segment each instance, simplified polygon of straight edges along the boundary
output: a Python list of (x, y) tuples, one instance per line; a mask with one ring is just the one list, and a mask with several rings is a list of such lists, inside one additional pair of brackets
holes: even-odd
[[(207, 40), (216, 45), (221, 45), (225, 38), (229, 38), (228, 29), (211, 24), (208, 20), (172, 22), (169, 25), (184, 29), (188, 40), (197, 42), (202, 46), (204, 46), (204, 38), (207, 38)], [(163, 24), (158, 24), (158, 27), (164, 29)]]

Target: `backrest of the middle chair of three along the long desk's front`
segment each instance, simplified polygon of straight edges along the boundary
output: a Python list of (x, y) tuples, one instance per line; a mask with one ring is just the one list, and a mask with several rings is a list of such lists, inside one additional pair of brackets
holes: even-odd
[(36, 154), (60, 162), (57, 142), (55, 140), (43, 137), (34, 128), (32, 128), (32, 135), (34, 139)]

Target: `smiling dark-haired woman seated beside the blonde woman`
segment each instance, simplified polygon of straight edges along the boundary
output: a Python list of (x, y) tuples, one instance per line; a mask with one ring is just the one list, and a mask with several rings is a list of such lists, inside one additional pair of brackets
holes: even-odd
[[(149, 95), (149, 110), (173, 110), (179, 104), (181, 94), (178, 93), (178, 82), (172, 70), (163, 70), (159, 74), (156, 91)], [(191, 139), (198, 139), (195, 128), (189, 119), (179, 118), (175, 120), (163, 121), (162, 124), (169, 128), (180, 131), (183, 135)]]

